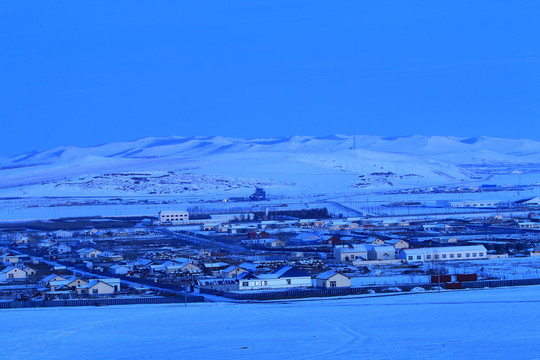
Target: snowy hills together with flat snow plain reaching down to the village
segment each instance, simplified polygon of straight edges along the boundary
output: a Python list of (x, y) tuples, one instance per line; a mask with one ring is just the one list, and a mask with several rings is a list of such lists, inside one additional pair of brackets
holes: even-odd
[[(481, 184), (528, 187), (490, 193), (411, 194), (405, 190)], [(303, 208), (321, 203), (333, 213), (357, 215), (357, 211), (332, 209), (325, 202), (333, 200), (362, 212), (397, 215), (400, 209), (380, 205), (515, 201), (538, 196), (539, 185), (540, 143), (527, 139), (171, 136), (88, 148), (62, 146), (0, 158), (0, 219), (148, 215), (163, 209), (155, 202), (130, 202), (142, 199), (157, 199), (178, 208), (200, 206), (203, 212), (216, 207), (234, 211), (230, 208), (251, 205), (221, 201), (246, 197), (255, 186), (264, 187), (272, 199), (264, 206)], [(104, 205), (92, 201), (115, 197), (123, 202)], [(68, 201), (79, 205), (55, 206)], [(85, 201), (87, 204), (80, 205)], [(424, 209), (401, 211), (413, 215)]]

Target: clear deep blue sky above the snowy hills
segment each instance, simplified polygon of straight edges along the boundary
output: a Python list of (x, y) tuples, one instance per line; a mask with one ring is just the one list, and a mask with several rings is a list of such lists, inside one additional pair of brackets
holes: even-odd
[(540, 140), (537, 1), (4, 1), (0, 155), (147, 136)]

